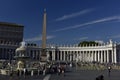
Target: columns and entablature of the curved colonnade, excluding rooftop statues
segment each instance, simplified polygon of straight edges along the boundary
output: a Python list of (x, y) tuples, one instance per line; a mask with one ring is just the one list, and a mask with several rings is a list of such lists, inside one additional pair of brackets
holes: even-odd
[[(28, 55), (31, 59), (40, 60), (41, 50), (29, 49)], [(116, 48), (79, 48), (63, 47), (47, 50), (49, 60), (51, 61), (80, 61), (80, 62), (99, 62), (99, 63), (117, 63)]]

